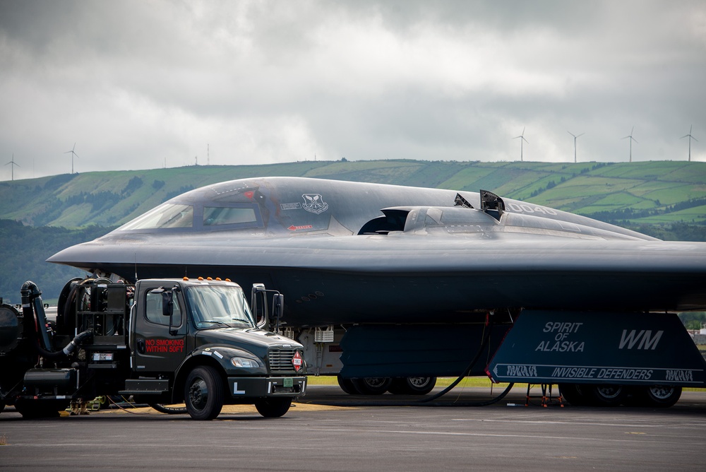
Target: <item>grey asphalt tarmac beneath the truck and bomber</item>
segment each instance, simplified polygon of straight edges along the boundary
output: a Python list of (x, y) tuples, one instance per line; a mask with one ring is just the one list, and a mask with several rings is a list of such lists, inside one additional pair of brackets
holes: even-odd
[[(667, 409), (556, 401), (544, 408), (540, 399), (526, 407), (525, 389), (483, 407), (377, 406), (418, 399), (311, 386), (282, 418), (226, 406), (209, 422), (151, 408), (23, 420), (8, 407), (0, 415), (0, 469), (706, 470), (706, 391), (684, 392)], [(467, 388), (441, 403), (487, 398), (488, 389)]]

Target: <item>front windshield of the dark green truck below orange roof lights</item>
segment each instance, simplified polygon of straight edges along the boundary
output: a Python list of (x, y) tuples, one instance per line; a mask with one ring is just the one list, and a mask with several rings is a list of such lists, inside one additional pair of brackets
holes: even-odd
[(255, 327), (250, 307), (240, 288), (194, 285), (186, 289), (186, 300), (198, 329)]

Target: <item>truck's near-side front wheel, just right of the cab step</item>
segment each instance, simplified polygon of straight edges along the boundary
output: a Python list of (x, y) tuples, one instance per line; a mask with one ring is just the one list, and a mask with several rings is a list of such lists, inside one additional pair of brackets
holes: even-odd
[(223, 408), (223, 381), (213, 367), (196, 367), (186, 377), (186, 411), (194, 420), (213, 420)]

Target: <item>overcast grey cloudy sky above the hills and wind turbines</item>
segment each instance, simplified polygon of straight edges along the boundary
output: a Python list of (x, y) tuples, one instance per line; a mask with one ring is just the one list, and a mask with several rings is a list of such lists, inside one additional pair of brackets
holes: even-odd
[(0, 180), (706, 161), (706, 2), (0, 0)]

